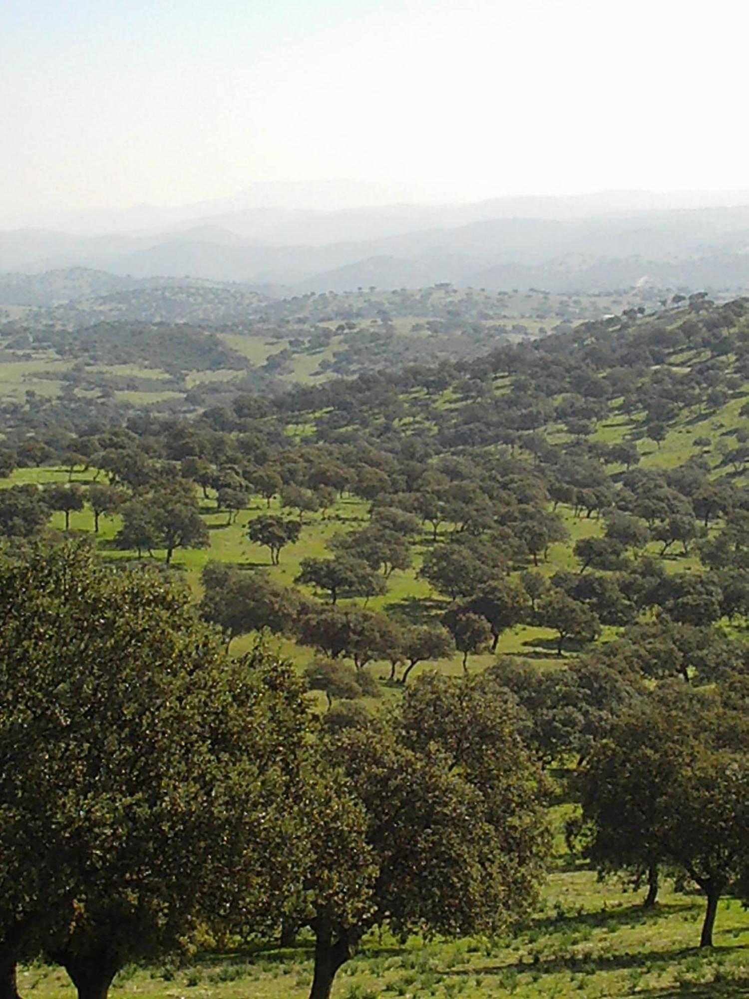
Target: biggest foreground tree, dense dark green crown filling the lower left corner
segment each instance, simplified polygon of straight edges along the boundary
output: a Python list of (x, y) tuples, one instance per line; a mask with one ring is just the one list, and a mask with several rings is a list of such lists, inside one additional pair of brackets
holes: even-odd
[(0, 703), (3, 999), (40, 952), (103, 999), (197, 921), (281, 911), (304, 688), (227, 660), (189, 593), (80, 545), (0, 561)]

